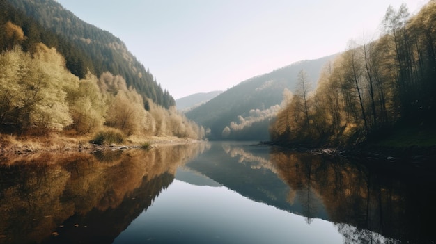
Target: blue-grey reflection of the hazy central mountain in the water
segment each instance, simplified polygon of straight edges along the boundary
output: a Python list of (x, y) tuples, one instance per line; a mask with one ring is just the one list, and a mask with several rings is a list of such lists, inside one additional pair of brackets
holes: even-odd
[[(269, 161), (269, 147), (243, 147), (221, 143), (212, 143), (208, 154), (203, 154), (185, 165), (186, 168), (200, 172), (219, 184), (235, 190), (256, 202), (275, 206), (291, 213), (303, 215), (307, 211), (303, 204), (308, 192), (298, 191), (293, 200), (293, 190), (277, 177), (274, 165)], [(327, 215), (317, 195), (309, 189), (313, 212), (311, 218), (326, 219)], [(292, 202), (290, 201), (292, 198)], [(315, 212), (316, 211), (316, 212)]]

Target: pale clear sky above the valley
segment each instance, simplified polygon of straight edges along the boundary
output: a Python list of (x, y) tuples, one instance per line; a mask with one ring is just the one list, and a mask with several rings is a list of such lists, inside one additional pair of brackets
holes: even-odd
[(125, 42), (175, 99), (374, 40), (389, 5), (428, 0), (57, 0)]

